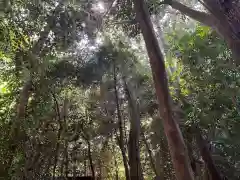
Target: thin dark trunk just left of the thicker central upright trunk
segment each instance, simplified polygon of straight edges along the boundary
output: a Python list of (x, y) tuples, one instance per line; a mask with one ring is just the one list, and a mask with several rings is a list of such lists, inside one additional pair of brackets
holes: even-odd
[(117, 136), (117, 142), (118, 142), (119, 148), (121, 150), (122, 158), (123, 158), (125, 177), (126, 177), (126, 180), (130, 180), (130, 174), (129, 174), (129, 169), (128, 169), (128, 159), (127, 159), (126, 149), (124, 147), (124, 132), (123, 132), (123, 124), (122, 124), (123, 120), (122, 120), (122, 116), (121, 116), (118, 90), (117, 90), (117, 74), (116, 74), (115, 62), (114, 62), (114, 67), (113, 67), (113, 76), (114, 76), (113, 77), (114, 78), (114, 94), (115, 94), (117, 118), (118, 118), (118, 124), (119, 124), (119, 137), (117, 136), (117, 134), (116, 134), (116, 136)]

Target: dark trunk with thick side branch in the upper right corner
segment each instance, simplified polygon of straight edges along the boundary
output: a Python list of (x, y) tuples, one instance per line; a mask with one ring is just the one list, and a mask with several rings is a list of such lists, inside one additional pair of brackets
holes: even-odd
[(196, 11), (175, 0), (169, 2), (172, 8), (211, 27), (226, 41), (232, 51), (234, 60), (240, 64), (240, 2), (203, 0), (203, 5), (209, 13)]

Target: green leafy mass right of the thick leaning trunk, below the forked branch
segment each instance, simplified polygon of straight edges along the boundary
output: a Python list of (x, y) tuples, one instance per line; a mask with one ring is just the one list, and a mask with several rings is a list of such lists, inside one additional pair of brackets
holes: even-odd
[(182, 105), (185, 124), (201, 127), (221, 172), (238, 179), (239, 68), (230, 65), (229, 50), (209, 28), (200, 26), (193, 33), (169, 39), (182, 68), (178, 73), (181, 93), (189, 104)]

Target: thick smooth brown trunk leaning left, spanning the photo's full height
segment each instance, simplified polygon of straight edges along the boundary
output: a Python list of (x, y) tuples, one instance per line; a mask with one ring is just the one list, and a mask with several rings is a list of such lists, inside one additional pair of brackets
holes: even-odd
[(164, 59), (154, 34), (147, 6), (144, 0), (133, 0), (133, 2), (148, 51), (156, 94), (160, 105), (159, 110), (163, 118), (164, 131), (168, 140), (176, 177), (178, 180), (193, 180), (193, 173), (182, 133), (173, 117)]

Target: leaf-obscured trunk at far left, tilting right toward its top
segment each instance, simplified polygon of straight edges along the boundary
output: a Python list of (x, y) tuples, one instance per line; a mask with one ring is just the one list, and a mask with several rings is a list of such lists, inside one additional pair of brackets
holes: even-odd
[[(41, 50), (43, 49), (44, 43), (46, 42), (50, 30), (55, 26), (53, 17), (56, 16), (57, 13), (61, 10), (62, 2), (54, 9), (52, 12), (52, 16), (48, 17), (47, 25), (45, 26), (44, 30), (40, 32), (40, 37), (38, 41), (33, 45), (33, 47), (29, 50), (27, 61), (31, 65), (30, 69), (30, 77), (27, 81), (24, 82), (22, 90), (19, 96), (19, 102), (17, 102), (17, 113), (16, 113), (16, 120), (13, 122), (11, 131), (10, 131), (10, 151), (11, 155), (9, 157), (9, 161), (7, 163), (6, 170), (9, 170), (11, 163), (13, 161), (14, 155), (17, 151), (24, 151), (24, 143), (26, 140), (26, 133), (22, 126), (22, 121), (24, 121), (26, 116), (26, 109), (28, 105), (29, 98), (32, 94), (32, 86), (33, 86), (33, 79), (32, 74), (34, 73), (37, 63), (37, 58), (39, 56), (44, 56), (49, 51), (46, 51), (44, 54), (41, 54)], [(51, 19), (51, 20), (50, 20)], [(40, 55), (41, 54), (41, 55)]]

